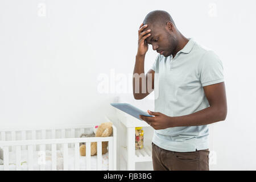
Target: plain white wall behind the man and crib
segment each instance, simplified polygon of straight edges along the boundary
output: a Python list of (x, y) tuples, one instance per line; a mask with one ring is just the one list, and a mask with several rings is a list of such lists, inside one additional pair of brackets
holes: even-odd
[[(148, 12), (161, 9), (183, 35), (213, 49), (224, 64), (228, 116), (210, 126), (210, 150), (216, 154), (210, 169), (255, 170), (255, 5), (254, 0), (1, 0), (0, 125), (113, 118), (109, 103), (118, 89), (131, 93), (139, 25)], [(150, 47), (145, 71), (156, 55)], [(102, 74), (109, 78), (108, 93), (99, 91)]]

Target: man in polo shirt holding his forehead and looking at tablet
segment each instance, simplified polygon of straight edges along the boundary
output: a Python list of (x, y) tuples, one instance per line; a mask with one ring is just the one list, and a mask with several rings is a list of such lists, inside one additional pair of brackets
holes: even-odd
[[(148, 13), (138, 34), (133, 94), (141, 100), (155, 90), (155, 111), (148, 110), (154, 117), (140, 116), (155, 129), (154, 170), (209, 170), (208, 125), (224, 121), (227, 114), (221, 60), (185, 38), (166, 11)], [(148, 44), (159, 55), (145, 76)]]

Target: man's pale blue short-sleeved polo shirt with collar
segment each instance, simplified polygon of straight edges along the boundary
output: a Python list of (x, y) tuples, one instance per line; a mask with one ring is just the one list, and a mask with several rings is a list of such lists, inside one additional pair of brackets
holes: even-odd
[[(209, 107), (203, 86), (224, 81), (221, 60), (193, 39), (171, 56), (158, 55), (155, 71), (155, 111), (171, 117), (188, 115)], [(160, 148), (191, 152), (209, 148), (208, 125), (154, 130), (152, 142)]]

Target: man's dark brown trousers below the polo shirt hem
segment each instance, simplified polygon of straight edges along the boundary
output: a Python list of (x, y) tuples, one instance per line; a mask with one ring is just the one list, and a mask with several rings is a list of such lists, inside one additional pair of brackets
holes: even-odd
[(152, 160), (155, 171), (209, 171), (209, 150), (174, 152), (152, 143)]

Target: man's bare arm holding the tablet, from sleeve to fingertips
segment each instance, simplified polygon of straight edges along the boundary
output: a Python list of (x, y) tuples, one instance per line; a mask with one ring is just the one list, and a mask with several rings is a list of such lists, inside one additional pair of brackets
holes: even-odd
[(224, 82), (204, 86), (204, 92), (210, 105), (206, 109), (178, 117), (170, 117), (163, 113), (148, 110), (148, 114), (154, 115), (155, 117), (140, 115), (140, 118), (150, 124), (155, 130), (177, 126), (208, 125), (225, 120), (228, 109)]

